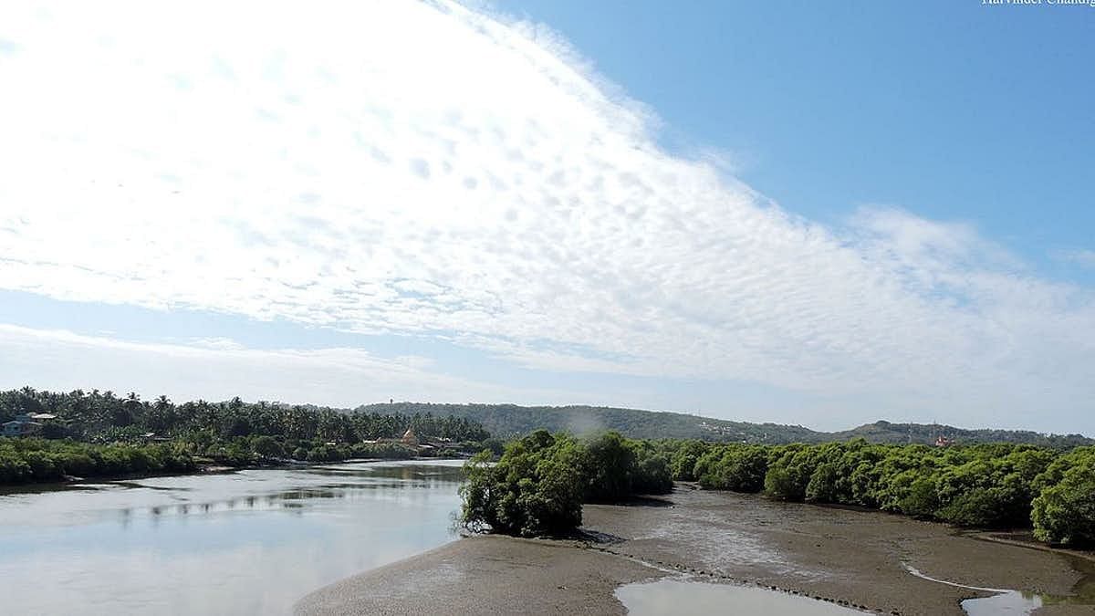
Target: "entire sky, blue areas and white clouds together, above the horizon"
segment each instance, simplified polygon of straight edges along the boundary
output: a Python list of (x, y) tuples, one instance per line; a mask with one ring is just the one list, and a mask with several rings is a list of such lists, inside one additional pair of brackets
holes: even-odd
[(0, 8), (0, 388), (1095, 435), (1095, 7)]

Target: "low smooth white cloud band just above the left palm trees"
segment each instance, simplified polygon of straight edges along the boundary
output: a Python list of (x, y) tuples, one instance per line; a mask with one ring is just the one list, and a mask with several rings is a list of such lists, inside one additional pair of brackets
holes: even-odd
[(146, 398), (280, 400), (356, 407), (428, 400), (503, 402), (573, 399), (567, 391), (518, 391), (427, 370), (430, 362), (378, 357), (356, 349), (255, 350), (242, 345), (161, 344), (0, 324), (0, 389), (136, 389)]

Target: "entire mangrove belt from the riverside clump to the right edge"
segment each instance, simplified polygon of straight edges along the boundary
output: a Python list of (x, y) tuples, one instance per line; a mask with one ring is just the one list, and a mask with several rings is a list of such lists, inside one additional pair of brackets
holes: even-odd
[(1040, 540), (1095, 546), (1095, 447), (935, 447), (843, 443), (751, 445), (579, 440), (537, 431), (498, 463), (468, 465), (463, 522), (514, 535), (581, 524), (583, 502), (665, 493), (671, 480), (769, 498), (855, 505), (964, 527), (1033, 527)]

